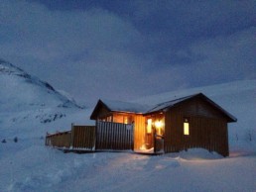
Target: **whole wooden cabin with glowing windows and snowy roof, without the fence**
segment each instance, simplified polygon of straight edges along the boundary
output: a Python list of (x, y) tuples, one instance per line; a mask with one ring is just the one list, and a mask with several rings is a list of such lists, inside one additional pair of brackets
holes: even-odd
[(91, 120), (132, 124), (134, 151), (174, 152), (192, 147), (229, 154), (227, 123), (236, 118), (202, 93), (156, 106), (99, 100)]

